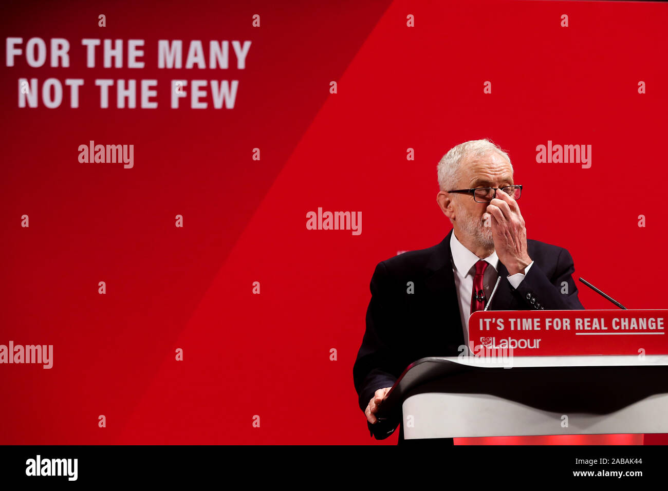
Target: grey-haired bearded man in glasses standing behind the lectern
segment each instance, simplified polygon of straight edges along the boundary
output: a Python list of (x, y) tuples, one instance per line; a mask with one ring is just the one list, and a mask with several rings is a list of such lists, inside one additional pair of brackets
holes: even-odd
[(522, 186), (501, 148), (488, 140), (455, 146), (438, 163), (438, 184), (436, 201), (452, 230), (434, 247), (381, 261), (371, 277), (353, 379), (378, 439), (399, 424), (376, 418), (387, 391), (413, 361), (459, 355), (474, 311), (487, 303), (488, 310), (584, 309), (570, 253), (526, 238), (518, 206)]

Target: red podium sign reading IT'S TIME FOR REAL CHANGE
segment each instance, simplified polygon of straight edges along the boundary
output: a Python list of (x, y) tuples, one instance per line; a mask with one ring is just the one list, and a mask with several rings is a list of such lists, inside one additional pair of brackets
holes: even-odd
[(668, 355), (668, 310), (477, 311), (468, 355)]

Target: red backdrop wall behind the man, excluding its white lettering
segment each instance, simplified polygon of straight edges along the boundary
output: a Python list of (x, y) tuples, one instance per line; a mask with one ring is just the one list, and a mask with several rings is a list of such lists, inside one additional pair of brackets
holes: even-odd
[[(575, 277), (667, 308), (651, 187), (665, 174), (667, 21), (668, 5), (624, 2), (5, 7), (3, 42), (65, 37), (71, 66), (7, 67), (2, 49), (0, 343), (54, 356), (50, 370), (0, 366), (0, 443), (375, 442), (352, 379), (371, 273), (444, 238), (436, 164), (466, 140), (509, 152), (528, 237), (566, 247)], [(145, 39), (146, 67), (89, 69), (85, 37)], [(244, 70), (160, 70), (158, 39), (182, 39), (184, 55), (191, 39), (253, 44)], [(81, 77), (81, 107), (65, 92), (60, 108), (18, 108), (19, 77)], [(100, 109), (96, 78), (156, 78), (160, 106)], [(236, 107), (172, 110), (173, 78), (238, 79)], [(89, 140), (134, 144), (134, 168), (79, 164)], [(537, 164), (547, 140), (591, 144), (591, 168)], [(361, 235), (307, 230), (319, 206), (361, 211)], [(585, 287), (580, 300), (611, 308)]]

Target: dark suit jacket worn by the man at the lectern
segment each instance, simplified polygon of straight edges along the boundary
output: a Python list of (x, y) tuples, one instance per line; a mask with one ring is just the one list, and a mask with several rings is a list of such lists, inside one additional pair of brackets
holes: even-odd
[[(451, 234), (452, 230), (434, 247), (391, 257), (375, 267), (366, 332), (353, 367), (362, 411), (377, 389), (391, 387), (413, 361), (460, 355), (459, 347), (465, 343), (450, 262)], [(501, 281), (488, 310), (584, 309), (571, 277), (575, 269), (570, 253), (538, 240), (528, 239), (526, 244), (534, 264), (514, 289), (507, 279), (508, 270), (499, 261)], [(409, 281), (414, 285), (410, 295)], [(562, 294), (564, 281), (568, 289)], [(371, 435), (381, 440), (392, 434), (399, 423), (367, 425)], [(400, 431), (400, 440), (402, 436)]]

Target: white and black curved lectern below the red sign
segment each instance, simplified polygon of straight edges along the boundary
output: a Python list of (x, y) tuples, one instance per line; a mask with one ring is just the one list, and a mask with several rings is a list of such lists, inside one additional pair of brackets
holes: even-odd
[(668, 356), (426, 357), (379, 416), (405, 440), (668, 433)]

